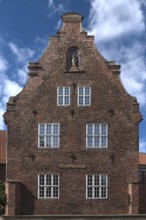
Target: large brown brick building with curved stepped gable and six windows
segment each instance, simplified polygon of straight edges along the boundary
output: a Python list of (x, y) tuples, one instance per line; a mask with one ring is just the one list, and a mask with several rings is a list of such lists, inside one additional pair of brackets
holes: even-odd
[(82, 19), (62, 16), (7, 104), (7, 215), (139, 212), (139, 105)]

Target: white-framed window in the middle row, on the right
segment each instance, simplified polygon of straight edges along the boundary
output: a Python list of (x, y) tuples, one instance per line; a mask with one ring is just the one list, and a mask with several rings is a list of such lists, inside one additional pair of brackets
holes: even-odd
[(86, 147), (107, 148), (108, 146), (108, 125), (87, 124), (86, 125)]

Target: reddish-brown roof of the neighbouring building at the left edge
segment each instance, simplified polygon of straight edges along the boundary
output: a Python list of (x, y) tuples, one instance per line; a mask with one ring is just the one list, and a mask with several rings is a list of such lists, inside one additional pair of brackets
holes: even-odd
[(0, 164), (6, 164), (7, 131), (0, 131)]

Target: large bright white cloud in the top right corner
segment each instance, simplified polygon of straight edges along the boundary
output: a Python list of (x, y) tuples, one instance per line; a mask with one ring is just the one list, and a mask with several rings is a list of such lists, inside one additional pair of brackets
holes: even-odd
[(137, 0), (93, 0), (89, 19), (90, 34), (98, 41), (144, 29), (141, 4)]

